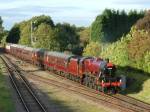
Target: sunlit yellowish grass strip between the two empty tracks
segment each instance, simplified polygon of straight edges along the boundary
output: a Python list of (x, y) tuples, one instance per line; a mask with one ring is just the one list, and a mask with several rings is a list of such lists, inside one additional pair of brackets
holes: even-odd
[(96, 104), (84, 97), (76, 94), (71, 94), (69, 91), (61, 90), (60, 88), (41, 84), (43, 91), (48, 93), (49, 105), (51, 109), (56, 109), (60, 112), (111, 112), (112, 110)]

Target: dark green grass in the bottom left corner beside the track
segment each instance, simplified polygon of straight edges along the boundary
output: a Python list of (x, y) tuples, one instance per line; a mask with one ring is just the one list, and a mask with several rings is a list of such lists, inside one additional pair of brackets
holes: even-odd
[(15, 112), (6, 78), (0, 70), (0, 112)]

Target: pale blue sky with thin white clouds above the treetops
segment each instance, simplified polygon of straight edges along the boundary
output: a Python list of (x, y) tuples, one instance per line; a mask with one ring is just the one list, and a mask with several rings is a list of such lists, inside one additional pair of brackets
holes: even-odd
[(150, 8), (150, 0), (0, 0), (0, 16), (7, 30), (42, 14), (49, 15), (54, 23), (90, 26), (105, 8), (145, 10)]

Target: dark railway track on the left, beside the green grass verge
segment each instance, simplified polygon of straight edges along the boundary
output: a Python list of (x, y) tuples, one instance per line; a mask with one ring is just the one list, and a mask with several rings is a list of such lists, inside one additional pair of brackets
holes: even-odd
[(10, 80), (16, 90), (22, 105), (26, 112), (47, 112), (28, 81), (21, 75), (21, 72), (13, 66), (13, 64), (5, 57), (0, 56), (7, 67)]

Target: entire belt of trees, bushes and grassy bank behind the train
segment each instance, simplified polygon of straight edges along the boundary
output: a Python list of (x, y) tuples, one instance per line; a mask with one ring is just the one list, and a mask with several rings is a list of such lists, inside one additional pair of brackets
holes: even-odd
[(150, 103), (150, 11), (105, 9), (86, 28), (55, 24), (45, 15), (17, 23), (9, 32), (2, 22), (0, 18), (1, 42), (109, 58), (117, 65), (117, 75), (129, 79), (124, 94)]

